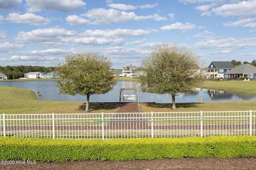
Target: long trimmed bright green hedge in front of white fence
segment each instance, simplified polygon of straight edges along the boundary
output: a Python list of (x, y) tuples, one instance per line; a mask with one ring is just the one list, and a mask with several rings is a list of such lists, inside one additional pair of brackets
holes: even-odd
[(152, 160), (162, 158), (256, 157), (256, 137), (144, 139), (24, 139), (0, 137), (0, 160)]

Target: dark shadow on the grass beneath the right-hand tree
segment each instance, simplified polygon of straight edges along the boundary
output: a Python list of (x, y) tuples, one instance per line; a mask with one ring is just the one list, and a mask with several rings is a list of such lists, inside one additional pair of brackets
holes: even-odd
[[(147, 107), (155, 107), (155, 108), (172, 108), (171, 103), (144, 103)], [(198, 107), (198, 103), (176, 103), (176, 109), (178, 108), (196, 108)]]

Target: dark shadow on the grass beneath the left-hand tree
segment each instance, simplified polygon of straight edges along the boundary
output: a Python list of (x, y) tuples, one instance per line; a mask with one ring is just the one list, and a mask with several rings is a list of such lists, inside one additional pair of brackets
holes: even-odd
[[(96, 110), (113, 110), (116, 109), (117, 103), (102, 104), (102, 103), (89, 103), (89, 112)], [(78, 110), (85, 111), (86, 103), (78, 107)]]

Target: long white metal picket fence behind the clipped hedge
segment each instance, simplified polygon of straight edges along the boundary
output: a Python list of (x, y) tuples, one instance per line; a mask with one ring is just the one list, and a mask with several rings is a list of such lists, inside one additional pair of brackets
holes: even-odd
[(256, 135), (256, 111), (0, 115), (0, 136), (127, 139)]

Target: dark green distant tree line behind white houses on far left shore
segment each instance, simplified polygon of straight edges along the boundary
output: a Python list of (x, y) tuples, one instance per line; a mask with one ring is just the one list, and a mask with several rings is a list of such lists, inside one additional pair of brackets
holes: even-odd
[(55, 67), (44, 66), (0, 66), (0, 72), (4, 73), (8, 79), (24, 77), (28, 72), (52, 72)]

